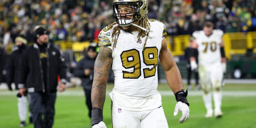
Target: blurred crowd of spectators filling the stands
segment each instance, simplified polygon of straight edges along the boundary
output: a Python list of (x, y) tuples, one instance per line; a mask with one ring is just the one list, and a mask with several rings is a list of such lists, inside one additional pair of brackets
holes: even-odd
[[(114, 22), (108, 0), (1, 0), (0, 42), (14, 42), (17, 35), (33, 42), (33, 28), (45, 25), (49, 39), (87, 41)], [(256, 30), (255, 0), (149, 0), (148, 17), (167, 27), (168, 35), (192, 34), (205, 21), (224, 32)]]

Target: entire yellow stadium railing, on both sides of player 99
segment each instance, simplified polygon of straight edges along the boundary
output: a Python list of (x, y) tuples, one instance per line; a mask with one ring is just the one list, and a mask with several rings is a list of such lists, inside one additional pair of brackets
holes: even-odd
[[(166, 36), (167, 46), (173, 56), (184, 55), (184, 49), (189, 45), (190, 37), (191, 35)], [(256, 53), (256, 32), (225, 33), (223, 41), (227, 58), (236, 54), (245, 54), (246, 49), (254, 49), (253, 52)], [(90, 45), (90, 42), (56, 41), (55, 44), (59, 45), (63, 51), (72, 49), (74, 52), (81, 52)]]

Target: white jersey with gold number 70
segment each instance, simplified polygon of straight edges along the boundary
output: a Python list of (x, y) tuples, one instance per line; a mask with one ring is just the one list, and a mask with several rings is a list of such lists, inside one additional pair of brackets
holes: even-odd
[(199, 65), (211, 65), (221, 62), (221, 51), (219, 44), (222, 43), (223, 31), (219, 29), (213, 30), (208, 37), (204, 31), (195, 31), (193, 37), (198, 44), (198, 63)]

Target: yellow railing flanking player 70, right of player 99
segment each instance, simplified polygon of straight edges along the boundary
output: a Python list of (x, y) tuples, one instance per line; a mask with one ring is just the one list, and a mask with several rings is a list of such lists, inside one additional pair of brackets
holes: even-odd
[[(184, 55), (184, 49), (189, 45), (190, 35), (167, 36), (168, 48), (173, 56)], [(229, 59), (232, 55), (245, 54), (246, 49), (253, 49), (256, 53), (256, 32), (225, 33), (223, 35), (225, 55)]]

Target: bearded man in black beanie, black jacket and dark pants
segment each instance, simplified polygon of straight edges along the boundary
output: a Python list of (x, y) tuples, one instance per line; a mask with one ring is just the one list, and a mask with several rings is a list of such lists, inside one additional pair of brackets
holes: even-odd
[(51, 128), (55, 113), (58, 75), (61, 83), (58, 89), (64, 91), (66, 65), (59, 50), (48, 43), (48, 34), (42, 26), (36, 26), (34, 34), (35, 43), (26, 49), (22, 56), (18, 88), (21, 95), (24, 95), (26, 88), (31, 96), (34, 127)]

